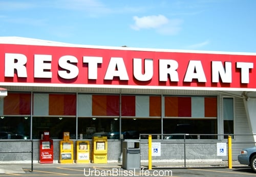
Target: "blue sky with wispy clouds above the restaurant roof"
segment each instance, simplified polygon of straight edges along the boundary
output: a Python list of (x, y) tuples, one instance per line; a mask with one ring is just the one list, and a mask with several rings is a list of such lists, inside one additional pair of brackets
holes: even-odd
[(256, 53), (254, 0), (0, 0), (0, 36)]

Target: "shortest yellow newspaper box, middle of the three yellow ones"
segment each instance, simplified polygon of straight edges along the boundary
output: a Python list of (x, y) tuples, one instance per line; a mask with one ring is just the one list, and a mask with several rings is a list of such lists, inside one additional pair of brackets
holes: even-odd
[(90, 163), (90, 142), (76, 142), (76, 163)]

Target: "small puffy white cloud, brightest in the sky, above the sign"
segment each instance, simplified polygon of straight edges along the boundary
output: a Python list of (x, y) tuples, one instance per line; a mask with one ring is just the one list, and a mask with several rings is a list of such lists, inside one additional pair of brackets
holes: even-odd
[(181, 19), (168, 19), (163, 15), (152, 15), (138, 17), (134, 16), (135, 24), (131, 26), (134, 30), (155, 29), (157, 33), (164, 35), (175, 35), (181, 30)]

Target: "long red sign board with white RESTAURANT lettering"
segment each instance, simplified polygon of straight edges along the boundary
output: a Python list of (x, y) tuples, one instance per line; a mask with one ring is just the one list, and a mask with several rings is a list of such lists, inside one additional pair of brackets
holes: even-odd
[(255, 62), (253, 53), (0, 44), (0, 85), (254, 90)]

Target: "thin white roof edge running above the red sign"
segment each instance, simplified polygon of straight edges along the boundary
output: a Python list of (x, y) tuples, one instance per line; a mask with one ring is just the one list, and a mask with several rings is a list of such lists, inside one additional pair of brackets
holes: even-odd
[(148, 52), (177, 52), (177, 53), (197, 53), (197, 54), (224, 54), (224, 55), (251, 55), (256, 56), (256, 53), (246, 52), (220, 52), (209, 50), (183, 50), (183, 49), (158, 49), (158, 48), (137, 48), (137, 47), (115, 47), (115, 46), (100, 46), (100, 45), (82, 45), (64, 42), (56, 42), (42, 39), (25, 38), (25, 37), (0, 37), (0, 44), (21, 44), (21, 45), (41, 45), (41, 46), (63, 46), (63, 47), (80, 47), (80, 48), (99, 48), (99, 49), (118, 49), (118, 50), (135, 50)]

